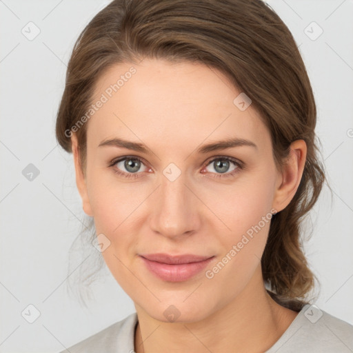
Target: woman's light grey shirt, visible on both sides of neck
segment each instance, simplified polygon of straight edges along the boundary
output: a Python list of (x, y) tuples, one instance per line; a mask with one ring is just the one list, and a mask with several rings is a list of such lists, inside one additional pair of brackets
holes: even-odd
[[(106, 327), (60, 353), (134, 353), (137, 313)], [(352, 353), (353, 326), (315, 305), (305, 305), (265, 353)]]

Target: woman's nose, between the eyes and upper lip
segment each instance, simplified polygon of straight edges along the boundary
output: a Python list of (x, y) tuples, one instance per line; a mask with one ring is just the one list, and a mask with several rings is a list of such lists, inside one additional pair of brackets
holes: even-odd
[(201, 201), (187, 183), (183, 174), (174, 181), (162, 176), (152, 198), (150, 227), (154, 232), (177, 240), (199, 230)]

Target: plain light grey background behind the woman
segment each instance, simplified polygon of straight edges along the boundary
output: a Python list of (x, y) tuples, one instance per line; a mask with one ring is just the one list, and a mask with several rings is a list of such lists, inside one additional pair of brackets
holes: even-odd
[[(68, 292), (68, 279), (79, 274), (83, 261), (79, 257), (77, 269), (68, 272), (68, 250), (80, 221), (87, 219), (72, 155), (54, 138), (70, 51), (108, 2), (0, 1), (0, 352), (58, 352), (134, 312), (106, 268), (92, 285), (88, 307)], [(316, 132), (334, 190), (333, 203), (323, 190), (310, 216), (312, 239), (305, 245), (321, 281), (316, 305), (353, 324), (353, 1), (268, 3), (303, 54), (318, 107)], [(22, 28), (30, 31), (30, 21), (41, 31), (32, 41), (21, 33)], [(312, 21), (323, 29), (315, 40), (307, 36), (319, 33)], [(40, 172), (32, 181), (22, 174), (29, 163)], [(88, 255), (85, 263), (93, 258)], [(32, 324), (21, 316), (30, 304), (41, 313)], [(35, 314), (29, 309), (28, 319)]]

